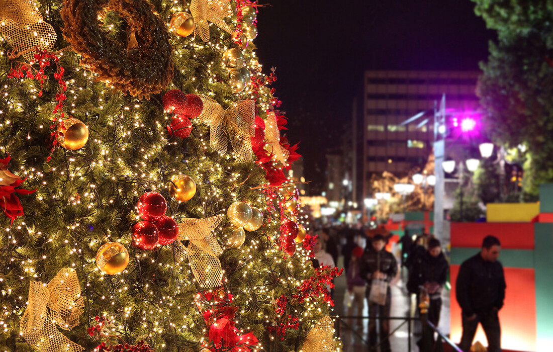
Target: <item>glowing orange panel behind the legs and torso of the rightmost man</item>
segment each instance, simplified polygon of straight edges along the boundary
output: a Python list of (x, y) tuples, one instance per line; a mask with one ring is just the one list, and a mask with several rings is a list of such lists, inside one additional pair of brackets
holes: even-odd
[[(455, 298), (458, 265), (451, 266), (451, 340), (461, 341), (461, 307)], [(501, 345), (513, 351), (536, 351), (536, 288), (534, 269), (505, 268), (505, 305), (499, 312)], [(487, 345), (482, 327), (474, 341)]]

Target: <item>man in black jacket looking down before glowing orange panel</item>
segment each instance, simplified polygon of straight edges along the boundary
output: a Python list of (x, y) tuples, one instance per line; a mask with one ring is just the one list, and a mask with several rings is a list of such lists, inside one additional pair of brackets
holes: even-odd
[(457, 276), (456, 296), (462, 309), (463, 335), (459, 348), (468, 352), (478, 323), (482, 324), (489, 352), (501, 352), (498, 312), (505, 299), (503, 266), (497, 260), (501, 244), (494, 236), (482, 241), (482, 251), (462, 263)]

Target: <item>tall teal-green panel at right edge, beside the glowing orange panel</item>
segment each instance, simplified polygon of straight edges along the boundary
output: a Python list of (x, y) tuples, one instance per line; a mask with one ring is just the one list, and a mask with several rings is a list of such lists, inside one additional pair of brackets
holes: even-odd
[(535, 224), (534, 242), (538, 351), (550, 351), (553, 341), (553, 224)]

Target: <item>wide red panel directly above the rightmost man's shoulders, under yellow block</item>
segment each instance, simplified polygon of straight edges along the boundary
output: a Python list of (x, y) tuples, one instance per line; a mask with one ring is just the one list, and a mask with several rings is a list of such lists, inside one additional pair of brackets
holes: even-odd
[(534, 249), (531, 222), (451, 222), (451, 247), (480, 248), (487, 235), (494, 235), (504, 249)]

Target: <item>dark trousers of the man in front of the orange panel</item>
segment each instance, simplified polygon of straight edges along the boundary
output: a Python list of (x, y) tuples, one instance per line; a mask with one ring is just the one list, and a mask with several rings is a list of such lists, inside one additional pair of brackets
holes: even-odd
[(486, 339), (488, 339), (488, 352), (501, 352), (501, 327), (499, 325), (498, 311), (492, 309), (487, 313), (477, 313), (476, 318), (468, 320), (465, 314), (462, 315), (463, 335), (459, 348), (463, 352), (469, 352), (472, 340), (476, 334), (478, 323), (482, 324)]

